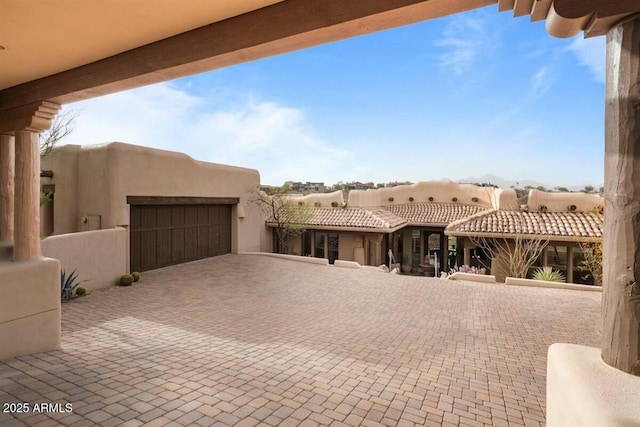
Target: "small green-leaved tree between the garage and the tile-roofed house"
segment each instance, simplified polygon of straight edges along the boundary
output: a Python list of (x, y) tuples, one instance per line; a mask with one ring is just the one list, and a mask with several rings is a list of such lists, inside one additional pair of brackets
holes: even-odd
[(266, 221), (274, 224), (277, 238), (274, 251), (278, 253), (288, 253), (289, 236), (302, 234), (305, 224), (313, 218), (310, 206), (293, 200), (287, 183), (266, 191), (257, 188), (251, 201), (262, 211)]

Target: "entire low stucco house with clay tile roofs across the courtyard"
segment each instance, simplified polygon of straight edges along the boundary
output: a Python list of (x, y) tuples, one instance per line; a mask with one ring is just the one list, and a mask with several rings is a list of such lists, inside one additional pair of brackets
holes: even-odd
[[(391, 250), (395, 261), (407, 260), (413, 273), (423, 270), (428, 257), (435, 274), (467, 264), (488, 267), (504, 280), (500, 266), (475, 241), (509, 241), (520, 234), (548, 241), (534, 266), (550, 265), (569, 282), (592, 284), (579, 245), (602, 239), (603, 215), (596, 210), (603, 200), (592, 194), (531, 190), (528, 205), (521, 207), (512, 189), (419, 182), (355, 190), (347, 202), (341, 191), (291, 200), (309, 206), (312, 214), (301, 224), (306, 231), (289, 237), (289, 253), (330, 263), (388, 264)], [(267, 226), (275, 224), (267, 220)]]

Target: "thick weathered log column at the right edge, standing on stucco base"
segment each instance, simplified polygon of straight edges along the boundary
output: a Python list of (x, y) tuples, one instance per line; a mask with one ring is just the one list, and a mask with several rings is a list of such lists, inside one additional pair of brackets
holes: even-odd
[(607, 34), (602, 359), (640, 376), (640, 15)]

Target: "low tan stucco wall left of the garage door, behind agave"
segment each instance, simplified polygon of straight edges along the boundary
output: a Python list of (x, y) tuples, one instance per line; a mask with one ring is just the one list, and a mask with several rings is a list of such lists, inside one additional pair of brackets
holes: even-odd
[(41, 241), (42, 254), (60, 261), (67, 274), (76, 270), (82, 286), (94, 290), (115, 285), (127, 273), (127, 230), (84, 231)]

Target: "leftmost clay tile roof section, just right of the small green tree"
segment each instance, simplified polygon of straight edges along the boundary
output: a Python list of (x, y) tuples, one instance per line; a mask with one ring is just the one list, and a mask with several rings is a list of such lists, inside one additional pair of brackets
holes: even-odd
[[(312, 217), (305, 226), (336, 228), (394, 229), (407, 221), (382, 208), (311, 208)], [(273, 221), (267, 221), (273, 225)]]

